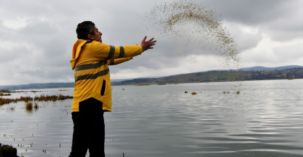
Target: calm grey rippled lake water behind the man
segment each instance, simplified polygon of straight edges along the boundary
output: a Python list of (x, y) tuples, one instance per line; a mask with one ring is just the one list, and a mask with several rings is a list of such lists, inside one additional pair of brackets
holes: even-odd
[[(112, 86), (106, 157), (303, 157), (303, 79), (241, 84)], [(73, 94), (73, 88), (35, 90), (41, 92), (2, 98)], [(39, 101), (30, 111), (25, 102), (1, 105), (0, 143), (20, 157), (67, 157), (71, 103)]]

